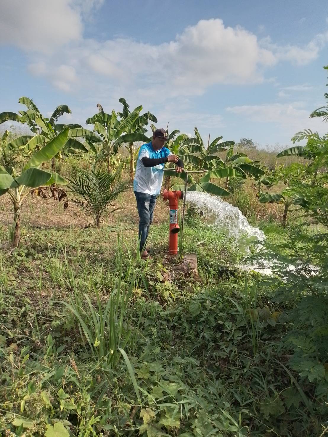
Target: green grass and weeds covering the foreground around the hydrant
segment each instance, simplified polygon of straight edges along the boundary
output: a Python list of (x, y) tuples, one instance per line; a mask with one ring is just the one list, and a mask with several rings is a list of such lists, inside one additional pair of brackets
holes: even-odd
[[(286, 239), (277, 222), (261, 227)], [(147, 262), (136, 234), (31, 228), (11, 257), (2, 250), (0, 432), (320, 435), (313, 387), (286, 368), (288, 309), (236, 268), (234, 240), (186, 220), (195, 278), (172, 273), (167, 223), (152, 226)]]

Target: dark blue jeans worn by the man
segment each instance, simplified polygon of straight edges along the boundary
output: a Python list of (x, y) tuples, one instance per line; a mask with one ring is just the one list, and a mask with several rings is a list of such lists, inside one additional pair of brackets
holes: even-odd
[(139, 239), (140, 252), (146, 249), (147, 238), (149, 234), (149, 226), (153, 222), (153, 214), (156, 205), (156, 196), (147, 193), (134, 192), (137, 201), (137, 208), (139, 214)]

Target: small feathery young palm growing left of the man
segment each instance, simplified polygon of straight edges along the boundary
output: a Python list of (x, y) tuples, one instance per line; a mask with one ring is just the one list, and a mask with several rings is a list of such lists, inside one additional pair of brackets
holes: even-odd
[(111, 209), (112, 204), (128, 188), (129, 181), (120, 180), (120, 172), (79, 169), (70, 180), (70, 190), (79, 196), (73, 202), (91, 215), (98, 229), (109, 214), (120, 209)]

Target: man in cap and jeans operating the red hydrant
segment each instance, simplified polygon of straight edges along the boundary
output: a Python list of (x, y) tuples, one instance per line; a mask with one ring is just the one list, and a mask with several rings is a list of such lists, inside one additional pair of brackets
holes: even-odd
[(153, 221), (156, 199), (162, 187), (164, 163), (174, 162), (176, 164), (175, 170), (178, 173), (181, 173), (184, 168), (182, 160), (173, 155), (167, 147), (164, 147), (167, 140), (164, 129), (156, 129), (153, 139), (148, 144), (141, 146), (139, 150), (133, 189), (140, 218), (140, 253), (143, 258), (148, 256), (146, 243), (149, 226)]

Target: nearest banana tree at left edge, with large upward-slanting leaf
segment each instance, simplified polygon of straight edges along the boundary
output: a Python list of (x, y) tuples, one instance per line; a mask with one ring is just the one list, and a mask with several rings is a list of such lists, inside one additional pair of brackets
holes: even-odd
[(8, 194), (14, 207), (12, 227), (12, 247), (17, 247), (21, 239), (21, 206), (30, 191), (23, 194), (25, 187), (32, 189), (51, 184), (66, 184), (68, 181), (56, 172), (38, 168), (51, 160), (70, 139), (70, 128), (63, 129), (42, 149), (34, 153), (18, 174), (14, 167), (4, 168), (0, 165), (0, 196)]

